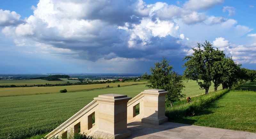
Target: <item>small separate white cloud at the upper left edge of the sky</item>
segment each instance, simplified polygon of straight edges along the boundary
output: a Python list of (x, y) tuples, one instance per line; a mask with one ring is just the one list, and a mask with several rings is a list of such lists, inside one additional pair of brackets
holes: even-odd
[(9, 10), (0, 9), (0, 27), (6, 26), (17, 26), (21, 23), (25, 23), (22, 19), (20, 19), (20, 15), (16, 12), (11, 12)]

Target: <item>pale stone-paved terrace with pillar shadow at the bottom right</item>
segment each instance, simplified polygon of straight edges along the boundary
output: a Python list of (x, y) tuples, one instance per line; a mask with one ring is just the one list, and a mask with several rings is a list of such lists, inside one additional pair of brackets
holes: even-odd
[(159, 126), (141, 122), (127, 124), (128, 139), (256, 139), (256, 133), (165, 122)]

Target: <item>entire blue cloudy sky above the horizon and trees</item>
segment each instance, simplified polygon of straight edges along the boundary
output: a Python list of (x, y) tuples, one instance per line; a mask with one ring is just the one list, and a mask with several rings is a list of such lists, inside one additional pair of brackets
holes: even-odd
[(0, 0), (0, 74), (182, 74), (197, 43), (256, 69), (255, 0)]

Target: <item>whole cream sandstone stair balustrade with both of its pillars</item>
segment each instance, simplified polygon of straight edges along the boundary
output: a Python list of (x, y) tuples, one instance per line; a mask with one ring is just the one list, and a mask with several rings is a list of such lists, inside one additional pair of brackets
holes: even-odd
[[(127, 95), (99, 95), (45, 137), (64, 138), (80, 132), (103, 138), (127, 138), (131, 135), (127, 130), (127, 123), (141, 121), (159, 125), (167, 121), (165, 116), (167, 93), (165, 90), (148, 89), (132, 99)], [(137, 105), (140, 110), (136, 115)], [(93, 116), (95, 123), (92, 123)]]

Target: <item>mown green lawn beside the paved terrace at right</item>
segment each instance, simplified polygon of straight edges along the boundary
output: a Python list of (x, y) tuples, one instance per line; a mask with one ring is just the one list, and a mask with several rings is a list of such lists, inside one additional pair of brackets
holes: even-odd
[[(256, 84), (246, 83), (242, 87), (245, 86), (252, 90)], [(170, 121), (256, 133), (256, 93), (239, 90), (226, 93), (206, 108), (196, 111), (195, 116), (173, 118)]]

